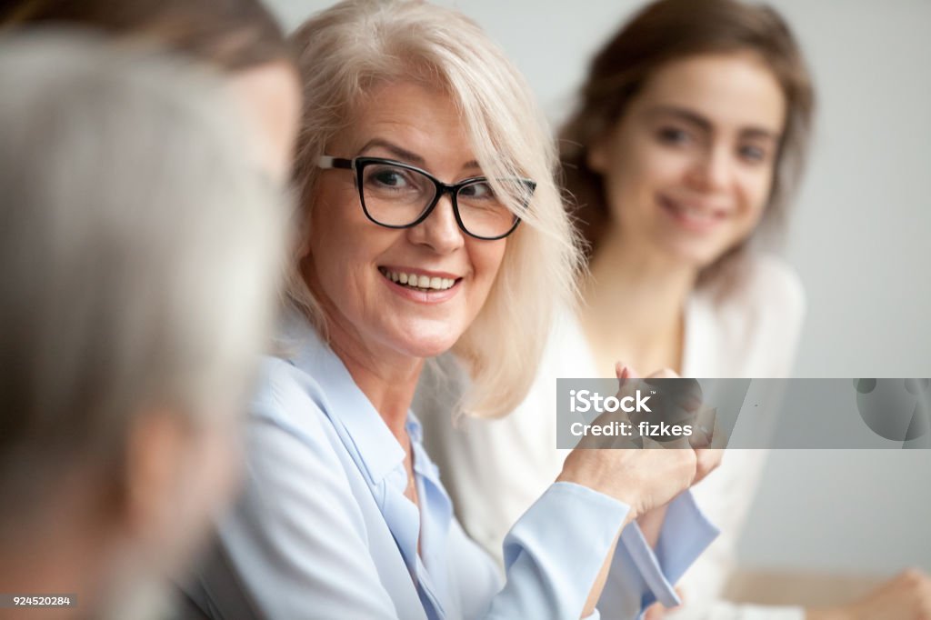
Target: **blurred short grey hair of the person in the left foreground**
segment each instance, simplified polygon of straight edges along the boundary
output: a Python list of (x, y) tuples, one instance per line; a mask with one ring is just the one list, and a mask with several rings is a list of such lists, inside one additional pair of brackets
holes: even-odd
[(222, 88), (91, 39), (0, 44), (7, 505), (75, 463), (118, 471), (135, 414), (197, 424), (250, 388), (287, 214)]

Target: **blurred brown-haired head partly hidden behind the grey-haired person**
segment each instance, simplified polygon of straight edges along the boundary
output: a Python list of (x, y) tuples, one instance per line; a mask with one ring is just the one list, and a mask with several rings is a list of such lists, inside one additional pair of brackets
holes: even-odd
[(300, 108), (281, 27), (259, 0), (20, 0), (0, 7), (0, 29), (81, 28), (120, 45), (160, 47), (228, 74), (254, 125), (255, 154), (287, 178)]

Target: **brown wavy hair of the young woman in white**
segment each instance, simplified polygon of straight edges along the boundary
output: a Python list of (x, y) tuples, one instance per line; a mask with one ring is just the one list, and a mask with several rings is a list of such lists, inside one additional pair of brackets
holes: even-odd
[[(588, 149), (620, 120), (647, 80), (668, 62), (746, 51), (762, 59), (786, 98), (786, 125), (761, 222), (782, 229), (789, 198), (803, 172), (815, 110), (812, 80), (789, 25), (771, 7), (737, 0), (659, 0), (642, 8), (601, 47), (575, 112), (560, 132), (563, 186), (573, 196), (589, 259), (598, 251), (609, 209), (601, 175), (588, 167)], [(728, 250), (703, 269), (699, 282), (738, 264), (734, 259), (746, 245)]]

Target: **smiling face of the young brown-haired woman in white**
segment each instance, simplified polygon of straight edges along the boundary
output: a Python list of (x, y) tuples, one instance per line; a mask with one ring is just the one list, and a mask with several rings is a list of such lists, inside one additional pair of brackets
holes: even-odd
[(612, 238), (699, 269), (713, 263), (760, 222), (785, 117), (776, 76), (754, 55), (661, 67), (589, 151)]

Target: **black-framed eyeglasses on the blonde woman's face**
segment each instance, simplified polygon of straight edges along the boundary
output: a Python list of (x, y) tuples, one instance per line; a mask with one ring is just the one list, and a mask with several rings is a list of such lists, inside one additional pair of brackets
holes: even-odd
[(508, 205), (526, 208), (536, 189), (529, 179), (473, 177), (453, 183), (439, 181), (426, 170), (382, 157), (344, 159), (323, 155), (319, 168), (356, 171), (358, 198), (366, 217), (387, 228), (411, 228), (430, 216), (444, 194), (452, 197), (452, 212), (468, 236), (493, 241), (518, 227), (520, 218)]

